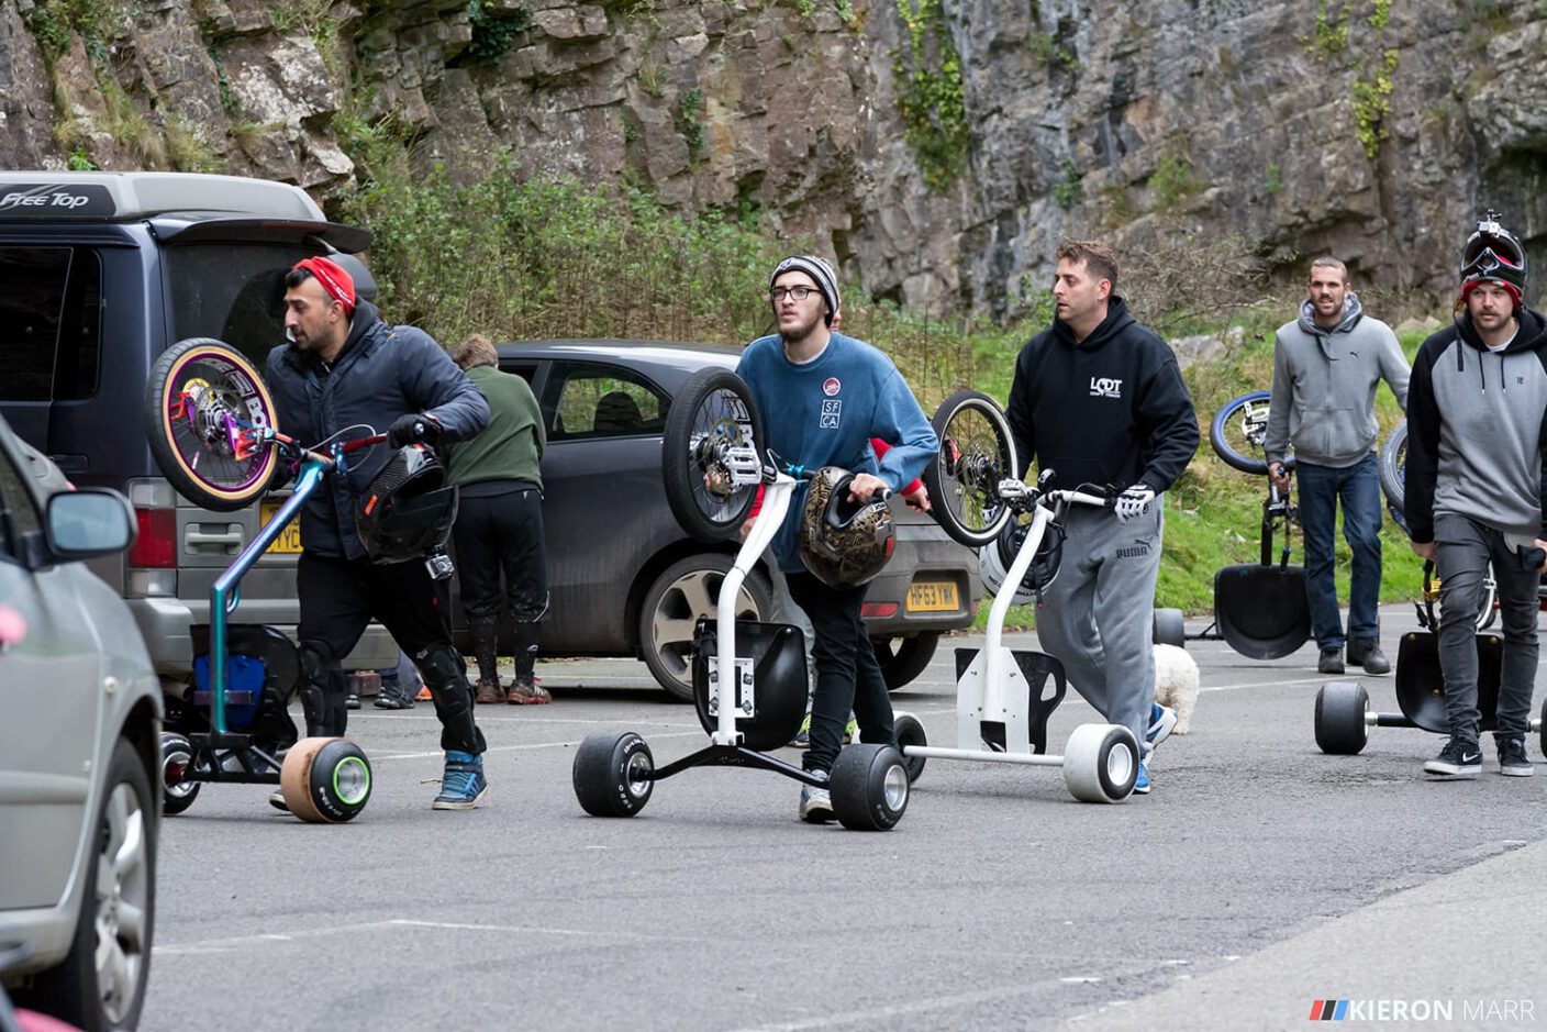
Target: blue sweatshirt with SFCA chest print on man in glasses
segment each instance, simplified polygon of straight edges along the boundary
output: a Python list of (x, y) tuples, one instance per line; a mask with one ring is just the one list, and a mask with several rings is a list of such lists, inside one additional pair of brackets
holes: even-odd
[[(893, 361), (842, 333), (834, 333), (821, 354), (804, 365), (784, 356), (780, 337), (760, 337), (741, 354), (736, 374), (763, 415), (767, 447), (786, 463), (874, 473), (899, 490), (939, 450), (930, 421)], [(871, 438), (893, 444), (880, 461)], [(795, 487), (789, 515), (774, 538), (784, 572), (803, 569), (797, 531), (806, 487), (806, 481)]]

